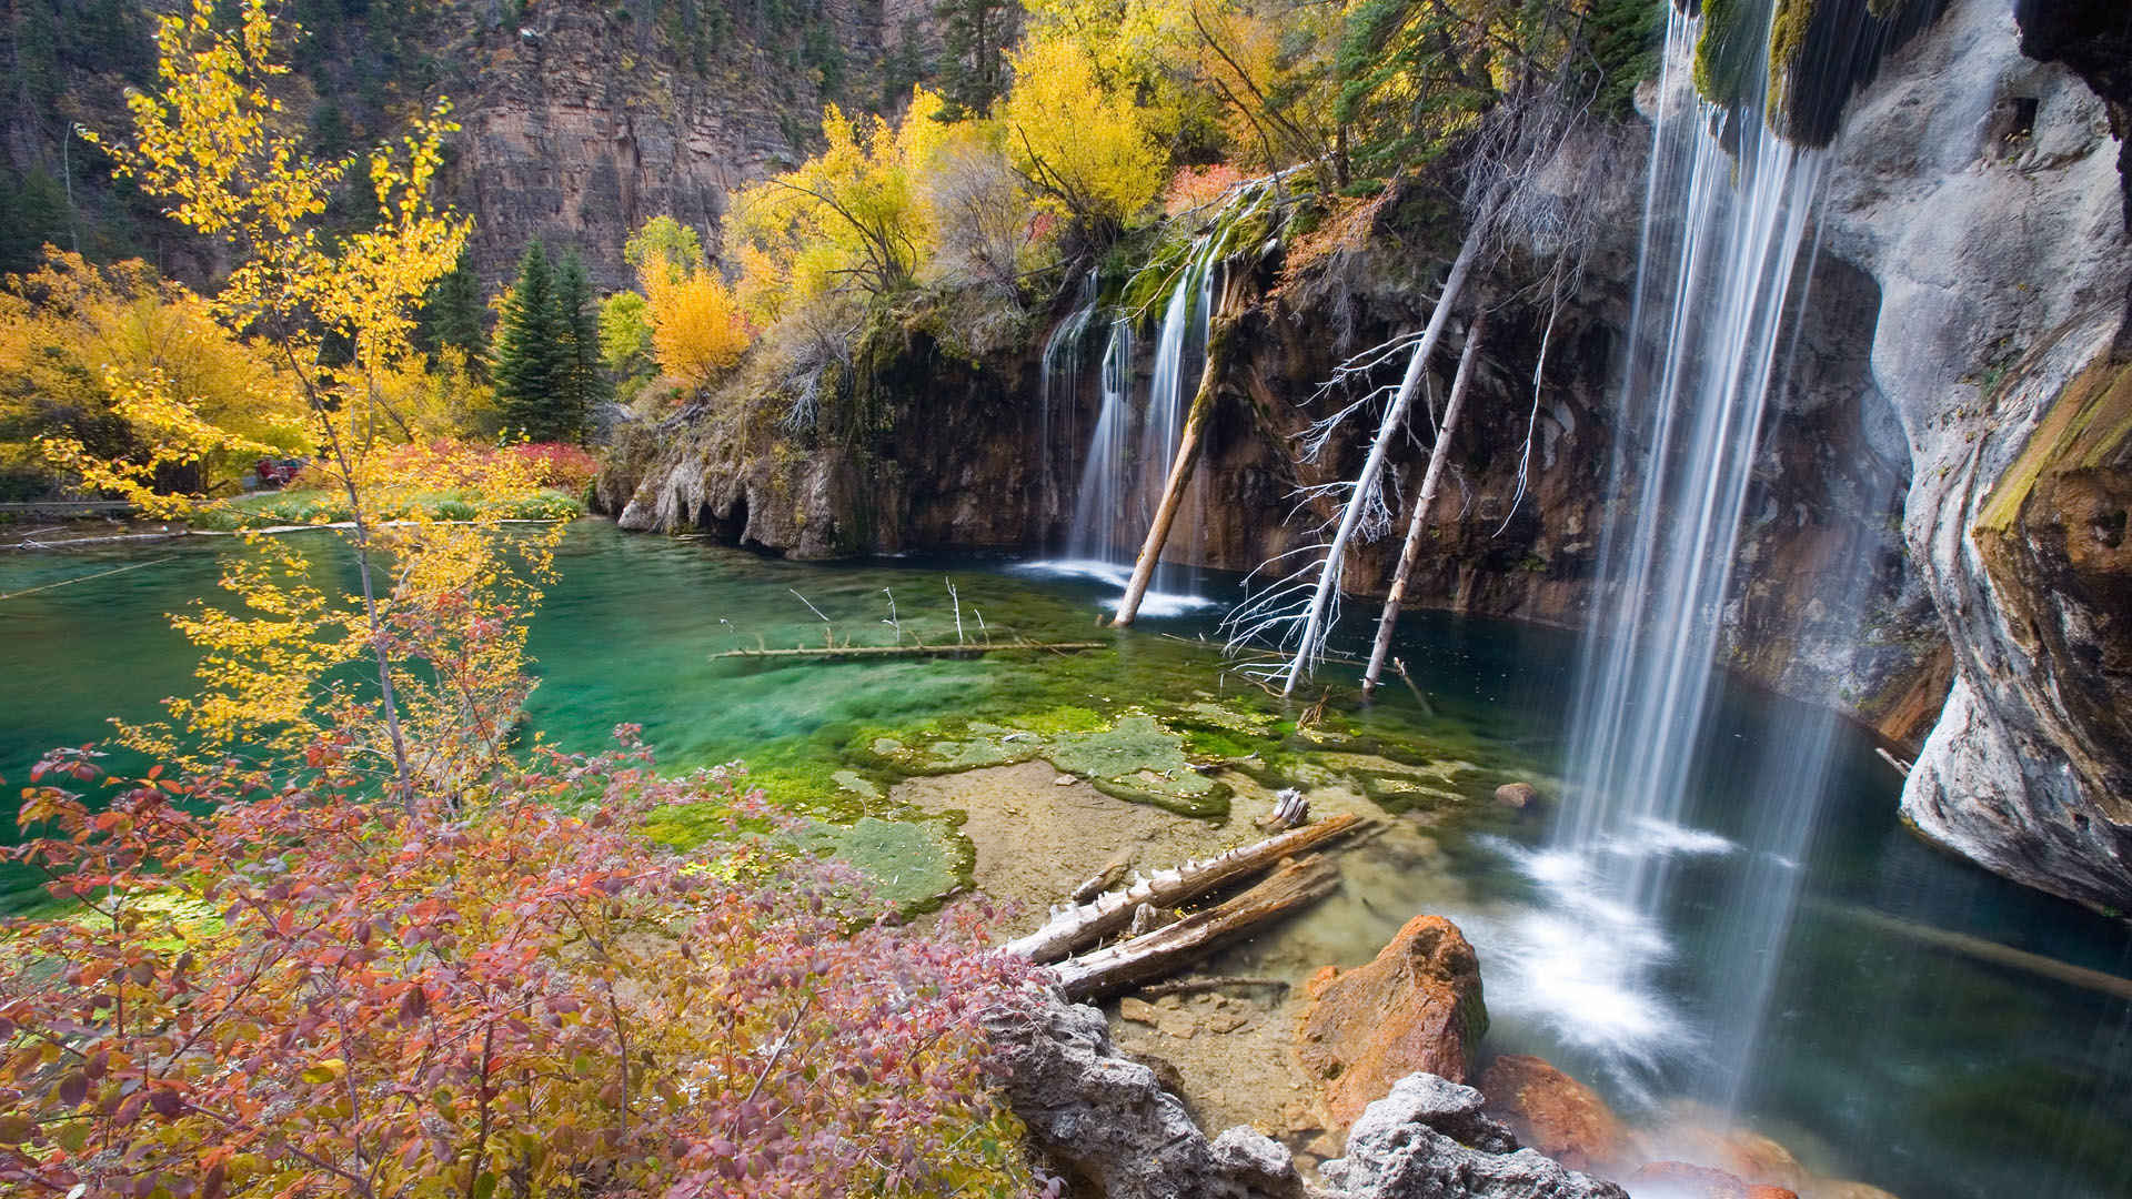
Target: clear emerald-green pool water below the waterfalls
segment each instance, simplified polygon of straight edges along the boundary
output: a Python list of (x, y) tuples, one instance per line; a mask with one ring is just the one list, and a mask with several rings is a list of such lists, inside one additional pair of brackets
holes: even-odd
[[(330, 542), (320, 535), (326, 553)], [(0, 777), (9, 794), (51, 745), (94, 740), (104, 717), (143, 719), (188, 685), (190, 653), (164, 612), (211, 595), (228, 542), (179, 542), (130, 553), (0, 559), (0, 593), (156, 563), (124, 574), (0, 600)], [(981, 614), (994, 636), (1109, 640), (1098, 632), (1107, 591), (1015, 574), (1004, 561), (874, 561), (812, 565), (759, 559), (691, 540), (623, 535), (580, 523), (559, 555), (561, 580), (533, 627), (542, 687), (531, 725), (567, 749), (597, 749), (635, 721), (669, 766), (746, 757), (774, 796), (810, 806), (849, 832), (825, 834), (861, 862), (908, 870), (919, 898), (953, 877), (957, 847), (938, 821), (910, 824), (868, 792), (953, 755), (1028, 753), (1040, 736), (1130, 721), (1166, 721), (1188, 751), (1262, 749), (1271, 770), (1294, 762), (1281, 736), (1296, 713), (1224, 683), (1211, 649), (1213, 614), (1147, 623), (1117, 651), (991, 661), (855, 661), (768, 666), (714, 659), (736, 646), (819, 644), (827, 612), (838, 638), (887, 642), (893, 591), (904, 632), (955, 638), (944, 576), (962, 595), (968, 636)], [(1220, 591), (1232, 580), (1207, 580)], [(1356, 636), (1360, 629), (1352, 629)], [(1185, 640), (1170, 640), (1175, 634)], [(1563, 751), (1556, 730), (1573, 644), (1565, 634), (1492, 621), (1409, 621), (1401, 653), (1418, 666), (1435, 715), (1403, 691), (1337, 719), (1354, 747), (1403, 760), (1456, 757), (1463, 804), (1433, 830), (1431, 862), (1375, 856), (1350, 866), (1347, 894), (1281, 939), (1290, 954), (1341, 964), (1367, 958), (1416, 911), (1473, 917), (1475, 928), (1533, 902), (1505, 847), (1537, 847), (1544, 828), (1486, 804), (1499, 781), (1546, 777)], [(1422, 666), (1426, 664), (1426, 666)], [(1224, 717), (1192, 717), (1211, 704)], [(1258, 721), (1266, 736), (1222, 728)], [(1753, 813), (1729, 787), (1784, 721), (1780, 704), (1733, 693), (1710, 734), (1693, 824), (1733, 834)], [(972, 728), (974, 725), (974, 728)], [(994, 732), (987, 732), (994, 730)], [(904, 749), (883, 749), (883, 745)], [(1098, 747), (1113, 749), (1113, 747)], [(1149, 747), (1141, 747), (1149, 749)], [(1160, 747), (1156, 747), (1160, 749)], [(1806, 905), (1784, 947), (1770, 1026), (1748, 1067), (1746, 1114), (1810, 1165), (1861, 1178), (1904, 1199), (2109, 1199), (2132, 1195), (2132, 1005), (2036, 973), (1889, 930), (1897, 917), (1981, 937), (2062, 962), (2132, 975), (2126, 926), (1985, 875), (1921, 845), (1893, 819), (1895, 777), (1863, 738), (1840, 747), (1842, 777), (1804, 862)], [(1128, 787), (1130, 789), (1130, 787)], [(1190, 806), (1202, 798), (1166, 800)], [(863, 817), (863, 819), (861, 819)], [(1185, 819), (1185, 817), (1179, 817)], [(853, 824), (857, 821), (857, 824)], [(674, 830), (684, 834), (687, 830)], [(1680, 902), (1665, 913), (1678, 945), (1667, 979), (1684, 1011), (1723, 994), (1710, 941), (1725, 922), (1731, 858), (1684, 866)], [(4, 896), (21, 905), (32, 892)], [(1488, 973), (1488, 941), (1477, 934)], [(1296, 949), (1307, 945), (1307, 949)], [(1279, 956), (1277, 943), (1243, 952)], [(1490, 975), (1490, 1045), (1539, 1052), (1578, 1073), (1576, 1045), (1516, 1018), (1518, 996)], [(1627, 1094), (1616, 1094), (1627, 1101)]]

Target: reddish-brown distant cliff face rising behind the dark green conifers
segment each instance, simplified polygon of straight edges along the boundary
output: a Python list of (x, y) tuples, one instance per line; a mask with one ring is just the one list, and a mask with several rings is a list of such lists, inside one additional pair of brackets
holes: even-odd
[[(533, 237), (576, 245), (605, 288), (627, 286), (623, 241), (672, 215), (716, 254), (718, 218), (740, 186), (797, 162), (795, 141), (834, 98), (823, 70), (793, 51), (727, 38), (701, 64), (629, 4), (537, 0), (522, 26), (473, 23), (454, 53), (461, 132), (446, 194), (473, 218), (484, 279), (512, 275)], [(823, 0), (810, 21), (842, 94), (868, 94), (881, 60), (878, 0)]]

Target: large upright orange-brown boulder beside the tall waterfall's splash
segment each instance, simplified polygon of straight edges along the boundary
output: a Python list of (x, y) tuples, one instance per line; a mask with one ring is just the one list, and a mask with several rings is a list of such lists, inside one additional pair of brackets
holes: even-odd
[(1441, 915), (1418, 915), (1369, 964), (1311, 977), (1296, 1054), (1347, 1126), (1409, 1073), (1465, 1082), (1486, 1030), (1473, 945)]

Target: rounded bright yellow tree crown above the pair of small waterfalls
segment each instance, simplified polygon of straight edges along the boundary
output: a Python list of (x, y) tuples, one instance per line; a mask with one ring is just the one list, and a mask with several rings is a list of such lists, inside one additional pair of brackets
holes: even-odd
[(1104, 90), (1068, 38), (1036, 36), (1013, 55), (1015, 87), (1000, 100), (1006, 154), (1060, 211), (1124, 222), (1156, 198), (1164, 156), (1145, 111)]

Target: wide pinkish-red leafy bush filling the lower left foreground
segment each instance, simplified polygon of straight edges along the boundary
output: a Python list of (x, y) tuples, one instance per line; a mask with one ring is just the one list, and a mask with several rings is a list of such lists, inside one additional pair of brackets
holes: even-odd
[[(0, 1184), (1032, 1190), (981, 1028), (1025, 966), (870, 920), (731, 770), (659, 779), (618, 734), (407, 809), (360, 796), (345, 738), (277, 792), (151, 770), (102, 811), (66, 789), (94, 755), (47, 757), (21, 821), (51, 834), (11, 853), (79, 907), (11, 922)], [(661, 849), (635, 830), (663, 804), (727, 832)]]

